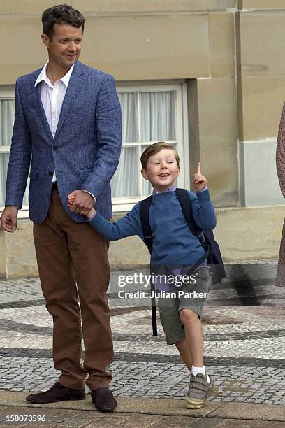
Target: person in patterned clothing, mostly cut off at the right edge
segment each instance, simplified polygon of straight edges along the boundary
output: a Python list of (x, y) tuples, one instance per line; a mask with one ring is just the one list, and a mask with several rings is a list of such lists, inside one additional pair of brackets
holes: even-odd
[[(280, 190), (285, 197), (285, 104), (282, 109), (277, 138), (276, 167)], [(285, 287), (285, 220), (283, 224), (275, 285), (277, 285), (277, 287)]]

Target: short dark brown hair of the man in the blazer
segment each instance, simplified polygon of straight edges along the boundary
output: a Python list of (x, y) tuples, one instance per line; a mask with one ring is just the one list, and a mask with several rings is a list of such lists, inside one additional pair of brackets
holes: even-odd
[(82, 27), (82, 31), (84, 31), (85, 17), (71, 6), (59, 4), (43, 12), (42, 23), (43, 33), (52, 39), (54, 24), (68, 24), (76, 28)]

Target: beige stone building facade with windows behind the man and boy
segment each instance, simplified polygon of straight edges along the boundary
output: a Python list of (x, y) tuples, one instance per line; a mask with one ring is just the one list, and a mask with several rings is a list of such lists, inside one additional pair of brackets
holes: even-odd
[[(285, 100), (285, 0), (66, 3), (87, 20), (80, 60), (117, 82), (123, 148), (112, 179), (114, 216), (150, 192), (139, 172), (142, 150), (168, 141), (182, 160), (180, 187), (190, 187), (201, 162), (224, 258), (276, 257), (285, 215), (275, 168)], [(15, 80), (45, 64), (41, 13), (53, 5), (0, 2), (0, 211)], [(1, 277), (37, 274), (28, 208), (26, 195), (17, 232), (0, 231)], [(137, 237), (110, 247), (113, 265), (147, 261)]]

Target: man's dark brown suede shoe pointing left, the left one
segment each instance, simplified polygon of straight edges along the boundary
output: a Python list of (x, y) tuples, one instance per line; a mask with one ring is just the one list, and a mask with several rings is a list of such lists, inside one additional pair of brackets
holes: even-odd
[(85, 390), (73, 390), (56, 382), (50, 390), (28, 395), (26, 400), (30, 403), (55, 403), (56, 401), (66, 400), (85, 400)]

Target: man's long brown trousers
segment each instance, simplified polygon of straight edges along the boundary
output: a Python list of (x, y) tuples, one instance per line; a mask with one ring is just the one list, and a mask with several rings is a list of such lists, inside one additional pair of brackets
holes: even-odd
[(113, 360), (106, 296), (108, 243), (89, 224), (71, 220), (57, 190), (52, 190), (45, 221), (34, 223), (34, 242), (43, 296), (53, 317), (53, 359), (55, 369), (61, 370), (59, 382), (80, 390), (89, 374), (86, 383), (91, 390), (108, 387), (112, 376), (106, 367)]

